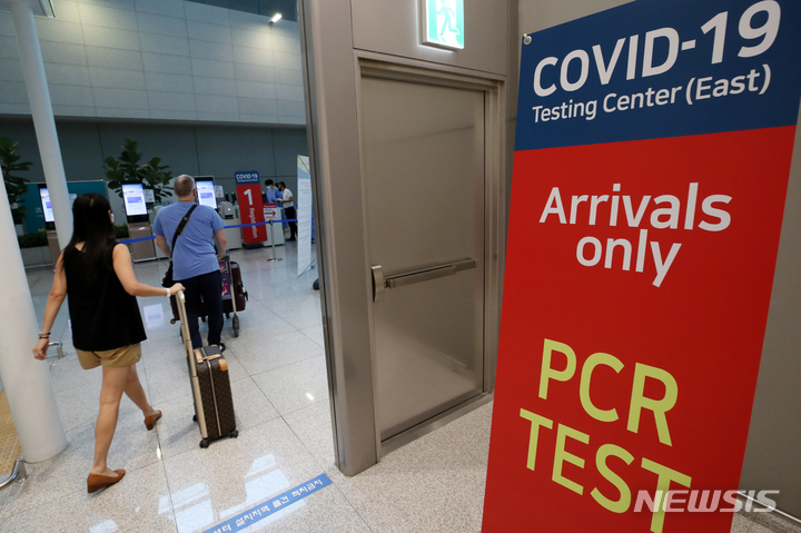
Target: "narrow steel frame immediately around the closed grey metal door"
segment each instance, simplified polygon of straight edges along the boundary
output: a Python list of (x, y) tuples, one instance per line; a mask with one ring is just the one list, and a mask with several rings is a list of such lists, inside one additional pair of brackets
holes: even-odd
[[(378, 409), (378, 391), (375, 386), (376, 376), (376, 335), (370, 302), (369, 336), (370, 356), (373, 361), (373, 401), (376, 426), (376, 450), (379, 456), (397, 450), (421, 436), (431, 433), (445, 424), (481, 407), (492, 399), (495, 388), (495, 366), (497, 362), (497, 344), (501, 324), (501, 297), (503, 280), (503, 249), (505, 248), (506, 220), (506, 177), (505, 177), (505, 117), (503, 106), (504, 81), (502, 77), (485, 72), (465, 71), (465, 69), (431, 65), (424, 61), (385, 57), (374, 52), (358, 51), (355, 55), (356, 80), (356, 115), (358, 118), (359, 167), (362, 174), (362, 198), (367, 198), (365, 137), (363, 131), (362, 79), (382, 79), (426, 86), (446, 87), (451, 89), (472, 90), (484, 96), (484, 332), (483, 391), (478, 395), (462, 402), (442, 413), (418, 423), (386, 441), (380, 440), (380, 422)], [(367, 272), (370, 270), (369, 225), (366, 209), (364, 214), (364, 239)]]

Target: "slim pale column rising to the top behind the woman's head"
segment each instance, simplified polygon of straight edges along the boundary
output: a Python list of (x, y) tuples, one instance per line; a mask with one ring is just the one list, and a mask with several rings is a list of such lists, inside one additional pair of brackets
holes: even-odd
[(72, 209), (67, 190), (67, 176), (61, 160), (61, 148), (56, 132), (56, 120), (50, 103), (50, 91), (44, 76), (44, 63), (39, 47), (39, 34), (33, 20), (33, 10), (30, 6), (12, 3), (10, 8), (14, 29), (17, 30), (22, 73), (28, 88), (28, 100), (30, 101), (33, 127), (39, 142), (44, 180), (50, 191), (50, 203), (56, 217), (59, 246), (63, 249), (72, 236)]

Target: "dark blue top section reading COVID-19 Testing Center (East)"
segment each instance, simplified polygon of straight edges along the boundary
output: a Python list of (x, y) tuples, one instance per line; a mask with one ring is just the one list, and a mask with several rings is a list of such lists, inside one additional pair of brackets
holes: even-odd
[(801, 2), (640, 0), (524, 40), (516, 150), (795, 124)]

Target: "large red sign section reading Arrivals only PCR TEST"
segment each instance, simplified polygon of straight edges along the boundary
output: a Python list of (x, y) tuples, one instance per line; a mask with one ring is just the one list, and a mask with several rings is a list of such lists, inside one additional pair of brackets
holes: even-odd
[(794, 132), (515, 156), (485, 531), (729, 531)]

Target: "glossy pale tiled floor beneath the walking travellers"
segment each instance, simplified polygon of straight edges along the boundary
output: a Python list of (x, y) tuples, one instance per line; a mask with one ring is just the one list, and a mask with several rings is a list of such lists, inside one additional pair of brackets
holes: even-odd
[[(408, 444), (368, 471), (345, 477), (334, 466), (330, 414), (316, 270), (297, 276), (294, 244), (231, 254), (249, 293), (233, 336), (226, 320), (239, 437), (201, 450), (178, 325), (166, 298), (139, 298), (148, 329), (139, 376), (164, 412), (147, 432), (123, 398), (109, 466), (126, 478), (86, 493), (93, 453), (100, 369), (75, 356), (65, 305), (53, 338), (65, 359), (52, 382), (69, 440), (57, 457), (29, 465), (30, 478), (0, 491), (2, 532), (205, 532), (319, 474), (333, 484), (239, 531), (478, 532), (490, 447), (492, 404)], [(165, 261), (135, 266), (140, 282), (160, 285)], [(39, 320), (52, 283), (49, 270), (28, 279)], [(201, 326), (201, 332), (205, 333)], [(2, 477), (2, 476), (0, 476)], [(735, 516), (732, 532), (801, 531)], [(590, 529), (587, 531), (591, 531)]]

